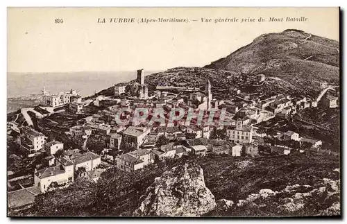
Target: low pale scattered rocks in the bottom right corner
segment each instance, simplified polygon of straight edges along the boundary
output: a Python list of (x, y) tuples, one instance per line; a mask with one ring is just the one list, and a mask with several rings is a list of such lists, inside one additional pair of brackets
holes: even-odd
[(282, 216), (289, 216), (298, 211), (306, 214), (318, 207), (323, 209), (320, 215), (339, 215), (339, 200), (340, 181), (323, 178), (314, 186), (294, 184), (282, 191), (261, 189), (259, 193), (251, 193), (245, 200), (239, 200), (236, 207), (254, 209), (266, 207), (271, 203), (277, 214)]

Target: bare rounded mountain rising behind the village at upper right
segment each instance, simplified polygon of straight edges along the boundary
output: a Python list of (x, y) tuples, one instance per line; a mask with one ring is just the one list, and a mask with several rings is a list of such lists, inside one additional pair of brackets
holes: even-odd
[(339, 42), (298, 30), (269, 33), (206, 67), (338, 83)]

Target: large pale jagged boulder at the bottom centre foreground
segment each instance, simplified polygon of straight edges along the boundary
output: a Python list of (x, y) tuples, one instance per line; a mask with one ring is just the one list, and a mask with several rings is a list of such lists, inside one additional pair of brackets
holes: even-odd
[(142, 198), (133, 216), (201, 216), (216, 207), (205, 186), (203, 169), (194, 163), (165, 171)]

